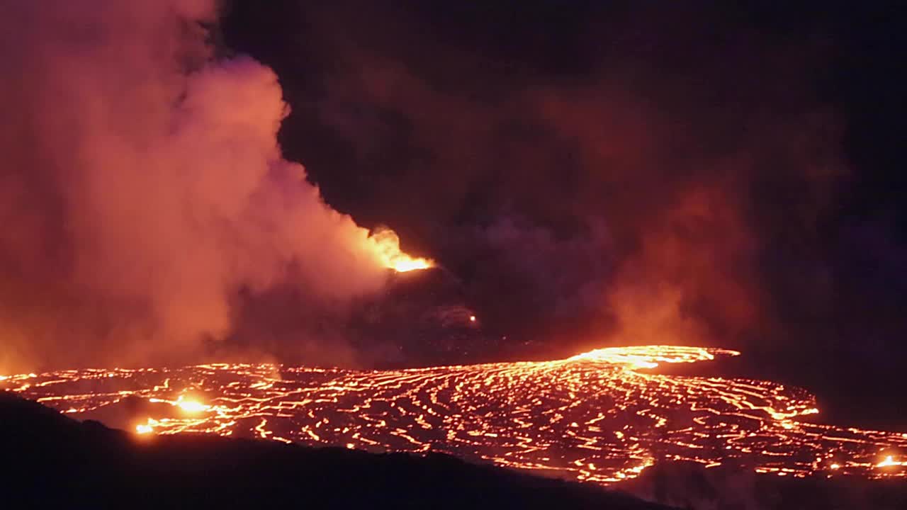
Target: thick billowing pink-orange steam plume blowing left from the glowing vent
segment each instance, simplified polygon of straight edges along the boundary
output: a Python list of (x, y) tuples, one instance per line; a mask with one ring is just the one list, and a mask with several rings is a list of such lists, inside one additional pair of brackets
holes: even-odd
[(216, 14), (0, 5), (0, 372), (185, 358), (289, 277), (304, 304), (382, 285), (388, 252), (282, 159), (276, 74), (212, 60)]

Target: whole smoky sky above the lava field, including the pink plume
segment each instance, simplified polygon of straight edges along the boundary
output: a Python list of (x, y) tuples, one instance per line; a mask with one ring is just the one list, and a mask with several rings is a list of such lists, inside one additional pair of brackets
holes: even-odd
[(458, 362), (734, 348), (904, 429), (901, 9), (725, 4), (0, 5), (0, 373), (444, 362), (429, 308)]

